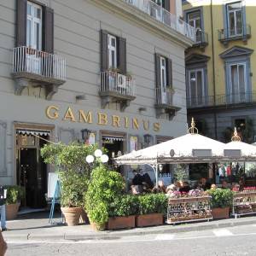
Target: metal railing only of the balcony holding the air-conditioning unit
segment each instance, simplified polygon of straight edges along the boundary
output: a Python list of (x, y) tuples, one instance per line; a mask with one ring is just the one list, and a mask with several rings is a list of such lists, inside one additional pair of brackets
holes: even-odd
[(113, 71), (101, 73), (101, 92), (112, 91), (123, 96), (135, 96), (135, 80)]

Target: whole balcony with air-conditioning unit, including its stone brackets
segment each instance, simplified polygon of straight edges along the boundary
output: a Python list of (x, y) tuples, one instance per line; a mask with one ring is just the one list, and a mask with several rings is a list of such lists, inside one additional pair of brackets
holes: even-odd
[(101, 89), (102, 108), (106, 108), (110, 102), (119, 102), (120, 110), (125, 111), (133, 101), (135, 96), (135, 80), (131, 76), (105, 71), (101, 73)]

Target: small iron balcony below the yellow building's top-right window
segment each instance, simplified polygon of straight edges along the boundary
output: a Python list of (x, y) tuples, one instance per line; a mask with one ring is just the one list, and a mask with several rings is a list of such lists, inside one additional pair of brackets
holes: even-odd
[(218, 41), (224, 45), (227, 45), (232, 40), (242, 40), (247, 42), (247, 39), (251, 38), (251, 26), (240, 26), (236, 29), (220, 29), (218, 30)]

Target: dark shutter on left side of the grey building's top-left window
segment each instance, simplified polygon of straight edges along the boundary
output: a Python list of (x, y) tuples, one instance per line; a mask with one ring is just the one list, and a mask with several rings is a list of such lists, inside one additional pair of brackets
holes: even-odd
[(26, 46), (26, 0), (16, 1), (16, 46)]

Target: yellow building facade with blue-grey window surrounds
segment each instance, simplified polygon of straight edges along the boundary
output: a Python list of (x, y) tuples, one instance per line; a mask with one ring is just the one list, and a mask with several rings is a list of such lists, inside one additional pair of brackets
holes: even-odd
[(201, 132), (229, 142), (234, 127), (256, 139), (256, 53), (253, 0), (183, 1), (183, 19), (196, 30), (186, 51), (188, 117)]

